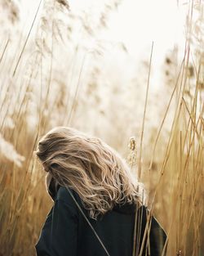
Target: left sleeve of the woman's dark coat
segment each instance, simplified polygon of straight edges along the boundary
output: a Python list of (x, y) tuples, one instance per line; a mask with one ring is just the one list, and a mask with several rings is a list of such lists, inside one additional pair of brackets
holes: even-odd
[(35, 245), (37, 256), (75, 256), (78, 215), (64, 200), (55, 200)]

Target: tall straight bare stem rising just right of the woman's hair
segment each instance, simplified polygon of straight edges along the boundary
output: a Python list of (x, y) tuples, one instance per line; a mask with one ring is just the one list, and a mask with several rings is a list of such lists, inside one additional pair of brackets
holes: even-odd
[(144, 115), (143, 115), (143, 123), (142, 123), (142, 131), (141, 131), (141, 137), (140, 137), (140, 155), (139, 155), (139, 166), (138, 166), (138, 180), (140, 181), (141, 176), (141, 159), (142, 159), (142, 146), (143, 146), (143, 135), (144, 135), (144, 120), (146, 116), (146, 110), (147, 110), (147, 103), (148, 103), (148, 94), (149, 94), (149, 79), (150, 79), (150, 72), (151, 72), (151, 65), (152, 65), (152, 56), (153, 56), (153, 43), (151, 47), (151, 54), (150, 54), (150, 60), (149, 60), (149, 74), (148, 74), (148, 84), (147, 84), (147, 90), (146, 90), (146, 96), (145, 96), (145, 103), (144, 103)]

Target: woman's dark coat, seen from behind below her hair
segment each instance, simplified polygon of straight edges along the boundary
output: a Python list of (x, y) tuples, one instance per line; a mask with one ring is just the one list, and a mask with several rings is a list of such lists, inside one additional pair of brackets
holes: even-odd
[[(113, 210), (104, 214), (97, 221), (89, 218), (88, 212), (82, 206), (79, 195), (69, 188), (92, 227), (102, 240), (110, 256), (131, 256), (133, 247), (133, 233), (135, 222), (135, 205), (115, 205)], [(106, 256), (104, 248), (96, 238), (95, 233), (86, 222), (69, 191), (60, 186), (55, 195), (54, 204), (47, 214), (35, 249), (37, 256)], [(142, 216), (142, 242), (146, 223), (146, 207), (140, 207), (138, 216)], [(138, 226), (139, 227), (139, 226)], [(162, 248), (166, 241), (166, 233), (152, 218), (150, 229), (151, 256), (162, 255)], [(146, 242), (146, 240), (145, 240)], [(145, 244), (144, 244), (145, 246)], [(166, 254), (164, 254), (166, 255)]]

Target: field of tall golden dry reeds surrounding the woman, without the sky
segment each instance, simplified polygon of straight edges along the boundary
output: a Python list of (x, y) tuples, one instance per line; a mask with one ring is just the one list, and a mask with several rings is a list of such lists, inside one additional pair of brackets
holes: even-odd
[(203, 2), (185, 2), (183, 52), (169, 49), (160, 70), (155, 43), (136, 65), (123, 43), (100, 40), (122, 1), (81, 12), (33, 2), (22, 22), (24, 2), (0, 2), (0, 256), (35, 255), (52, 202), (33, 150), (58, 125), (101, 137), (131, 163), (168, 256), (203, 256)]

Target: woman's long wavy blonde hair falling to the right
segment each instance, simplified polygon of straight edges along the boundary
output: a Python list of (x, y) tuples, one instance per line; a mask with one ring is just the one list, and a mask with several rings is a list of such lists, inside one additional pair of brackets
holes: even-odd
[(99, 137), (59, 126), (38, 141), (35, 153), (47, 166), (48, 183), (55, 180), (76, 191), (91, 218), (113, 209), (114, 204), (143, 204), (143, 184), (126, 160)]

